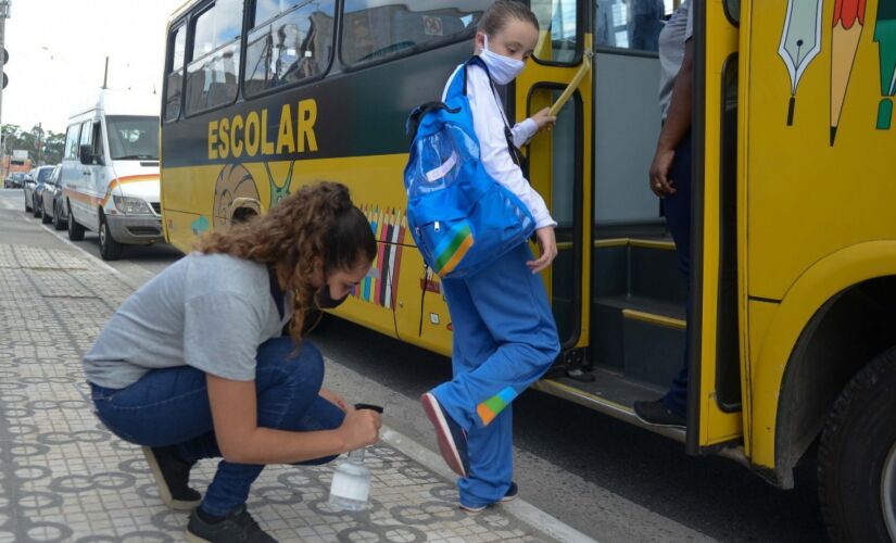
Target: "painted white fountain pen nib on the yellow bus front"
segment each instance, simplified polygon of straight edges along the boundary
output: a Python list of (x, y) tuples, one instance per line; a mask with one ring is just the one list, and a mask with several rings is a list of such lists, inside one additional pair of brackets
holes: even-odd
[(778, 54), (791, 76), (791, 101), (787, 106), (787, 126), (793, 126), (796, 109), (796, 89), (809, 64), (821, 52), (821, 12), (823, 0), (790, 0), (784, 31)]

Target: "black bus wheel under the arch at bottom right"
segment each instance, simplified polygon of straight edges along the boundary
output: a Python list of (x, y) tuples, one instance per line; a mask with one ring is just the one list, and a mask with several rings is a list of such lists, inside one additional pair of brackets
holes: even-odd
[(896, 348), (862, 368), (834, 403), (818, 475), (832, 541), (896, 542)]

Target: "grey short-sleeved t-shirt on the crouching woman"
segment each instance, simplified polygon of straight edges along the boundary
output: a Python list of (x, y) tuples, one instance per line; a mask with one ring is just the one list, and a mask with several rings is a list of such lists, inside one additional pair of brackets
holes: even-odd
[(192, 366), (251, 381), (260, 344), (280, 334), (267, 266), (224, 254), (190, 253), (130, 295), (84, 357), (87, 379), (123, 389), (151, 369)]

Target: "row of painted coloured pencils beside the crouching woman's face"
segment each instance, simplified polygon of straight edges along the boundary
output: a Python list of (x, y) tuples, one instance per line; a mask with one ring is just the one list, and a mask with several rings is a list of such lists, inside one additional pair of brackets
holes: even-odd
[(387, 308), (395, 306), (402, 252), (407, 233), (407, 217), (402, 210), (361, 205), (377, 239), (377, 256), (367, 277), (352, 291), (365, 302)]

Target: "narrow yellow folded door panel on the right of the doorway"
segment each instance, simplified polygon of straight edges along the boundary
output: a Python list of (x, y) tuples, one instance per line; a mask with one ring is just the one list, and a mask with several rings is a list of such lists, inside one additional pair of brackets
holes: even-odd
[[(742, 437), (737, 97), (740, 0), (695, 1), (689, 453)], [(741, 229), (739, 232), (739, 228)]]

